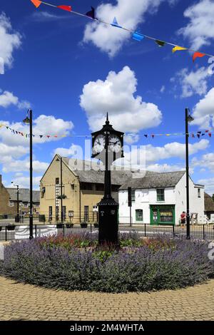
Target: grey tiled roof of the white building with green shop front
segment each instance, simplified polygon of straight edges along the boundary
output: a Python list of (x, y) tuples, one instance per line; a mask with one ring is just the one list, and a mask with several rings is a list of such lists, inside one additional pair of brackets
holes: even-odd
[(127, 190), (128, 187), (132, 187), (133, 189), (174, 187), (184, 174), (185, 171), (163, 173), (147, 171), (146, 175), (142, 178), (133, 177), (129, 179), (128, 182), (125, 182), (120, 187), (120, 190)]

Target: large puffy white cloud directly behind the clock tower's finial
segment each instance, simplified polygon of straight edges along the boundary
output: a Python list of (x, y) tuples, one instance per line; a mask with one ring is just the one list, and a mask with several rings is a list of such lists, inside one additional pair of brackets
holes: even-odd
[(113, 126), (125, 132), (138, 133), (159, 125), (162, 114), (158, 106), (135, 97), (136, 88), (135, 73), (128, 66), (118, 73), (109, 72), (105, 81), (90, 81), (83, 86), (80, 105), (86, 110), (91, 130), (101, 128), (107, 111)]

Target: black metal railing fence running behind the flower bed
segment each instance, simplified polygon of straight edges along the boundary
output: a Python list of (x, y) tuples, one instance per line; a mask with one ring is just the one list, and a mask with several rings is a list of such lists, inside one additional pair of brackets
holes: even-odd
[[(78, 234), (82, 232), (89, 232), (94, 234), (98, 232), (97, 225), (34, 225), (34, 237), (45, 237), (54, 234)], [(186, 236), (185, 227), (166, 225), (119, 225), (119, 232), (121, 234), (128, 232), (138, 232), (141, 237), (155, 237), (157, 235), (167, 235), (169, 237), (184, 237)], [(29, 225), (5, 225), (0, 227), (0, 241), (29, 239)], [(191, 239), (206, 239), (214, 240), (214, 225), (193, 225), (190, 226)]]

